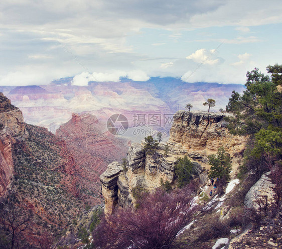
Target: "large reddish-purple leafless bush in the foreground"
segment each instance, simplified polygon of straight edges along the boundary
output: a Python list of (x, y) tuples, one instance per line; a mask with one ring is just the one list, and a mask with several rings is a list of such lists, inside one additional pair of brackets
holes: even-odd
[(178, 232), (193, 218), (193, 194), (189, 187), (144, 193), (138, 208), (116, 210), (93, 232), (94, 248), (170, 248)]

